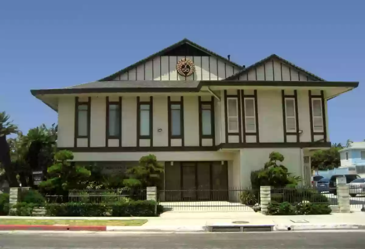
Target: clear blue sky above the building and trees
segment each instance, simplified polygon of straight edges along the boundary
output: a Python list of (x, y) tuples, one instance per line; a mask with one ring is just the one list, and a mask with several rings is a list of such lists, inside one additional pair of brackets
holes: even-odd
[(184, 37), (250, 65), (277, 54), (360, 86), (328, 102), (330, 139), (365, 139), (364, 1), (2, 1), (0, 111), (57, 122), (30, 89), (95, 81)]

